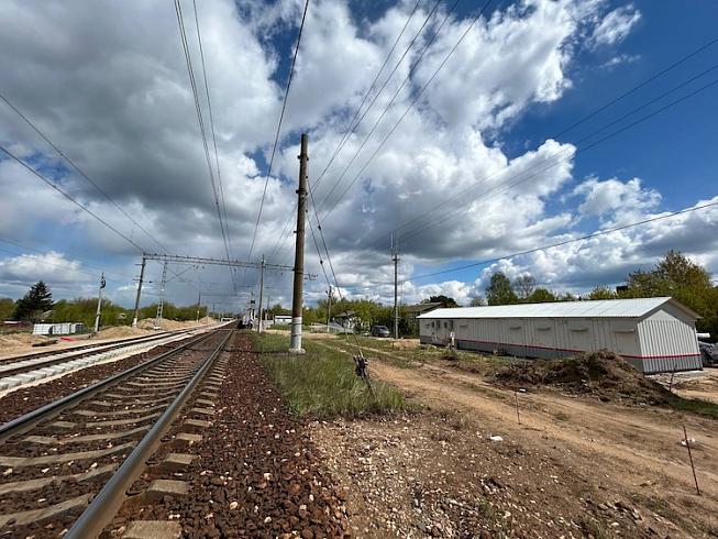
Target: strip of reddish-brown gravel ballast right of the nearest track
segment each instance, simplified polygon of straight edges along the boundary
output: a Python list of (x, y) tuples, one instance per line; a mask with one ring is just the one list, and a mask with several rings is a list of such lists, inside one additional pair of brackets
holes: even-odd
[[(235, 333), (220, 362), (224, 374), (202, 389), (214, 405), (212, 425), (187, 446), (176, 421), (108, 535), (135, 537), (137, 522), (150, 521), (167, 537), (342, 537), (349, 529), (344, 498), (322, 473), (306, 426), (288, 413), (248, 336)], [(163, 464), (178, 447), (191, 461)], [(162, 481), (180, 481), (164, 483), (179, 494), (147, 492)]]

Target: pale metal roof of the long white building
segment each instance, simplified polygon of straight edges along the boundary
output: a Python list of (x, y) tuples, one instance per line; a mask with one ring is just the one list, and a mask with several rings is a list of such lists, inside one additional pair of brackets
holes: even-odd
[(418, 318), (641, 318), (666, 302), (693, 318), (700, 318), (670, 297), (457, 307), (437, 309)]

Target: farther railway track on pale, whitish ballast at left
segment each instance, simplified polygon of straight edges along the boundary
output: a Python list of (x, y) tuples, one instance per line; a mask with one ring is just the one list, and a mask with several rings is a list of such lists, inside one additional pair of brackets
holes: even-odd
[(122, 341), (79, 346), (62, 352), (37, 353), (0, 361), (0, 392), (106, 361), (120, 354), (146, 350), (192, 334), (197, 329), (163, 332)]

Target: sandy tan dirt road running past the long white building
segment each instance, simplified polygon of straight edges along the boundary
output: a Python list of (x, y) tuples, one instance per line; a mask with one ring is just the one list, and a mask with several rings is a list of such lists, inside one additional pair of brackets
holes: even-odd
[[(343, 348), (339, 342), (324, 341), (322, 345)], [(633, 518), (634, 528), (629, 521), (625, 529), (622, 522), (610, 521), (615, 514), (601, 520), (597, 513), (605, 537), (718, 537), (718, 425), (713, 419), (663, 408), (605, 404), (555, 391), (515, 394), (448, 365), (401, 369), (374, 361), (372, 374), (396, 384), (417, 403), (457, 411), (462, 421), (475, 424), (485, 436), (499, 435), (527, 454), (548, 455), (559, 469), (556, 476), (566, 482), (557, 499), (551, 501), (554, 506), (571, 507), (592, 492), (594, 501), (603, 497), (608, 506), (618, 503), (619, 508), (631, 507), (640, 515)], [(681, 443), (683, 425), (695, 439), (693, 458), (702, 496), (696, 495), (688, 453)], [(475, 450), (483, 449), (479, 444)], [(527, 468), (540, 464), (524, 463)], [(367, 536), (374, 536), (367, 529)], [(585, 526), (583, 532), (590, 534)], [(592, 535), (600, 534), (604, 531)]]

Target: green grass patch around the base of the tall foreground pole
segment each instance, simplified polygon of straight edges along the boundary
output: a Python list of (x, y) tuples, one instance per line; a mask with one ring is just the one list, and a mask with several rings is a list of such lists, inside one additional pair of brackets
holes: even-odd
[(373, 391), (369, 389), (354, 374), (354, 362), (349, 354), (305, 339), (302, 345), (307, 353), (292, 355), (287, 353), (289, 338), (280, 334), (253, 333), (253, 341), (259, 362), (298, 416), (355, 418), (407, 408), (404, 395), (396, 387), (373, 380)]

